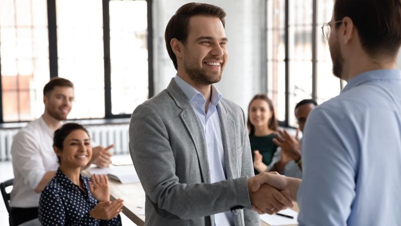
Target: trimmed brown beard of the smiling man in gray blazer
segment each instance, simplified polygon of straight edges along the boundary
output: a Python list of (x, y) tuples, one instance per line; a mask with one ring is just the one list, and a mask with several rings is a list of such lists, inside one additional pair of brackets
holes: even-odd
[(191, 61), (190, 57), (184, 56), (184, 70), (189, 78), (197, 84), (210, 85), (222, 79), (223, 67), (219, 73), (207, 73), (202, 67), (198, 67), (196, 62)]

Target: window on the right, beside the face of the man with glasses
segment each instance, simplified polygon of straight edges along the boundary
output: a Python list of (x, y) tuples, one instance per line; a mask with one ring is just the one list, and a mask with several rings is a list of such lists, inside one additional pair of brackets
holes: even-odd
[(267, 94), (280, 124), (294, 127), (299, 101), (322, 103), (341, 90), (320, 29), (330, 21), (333, 0), (267, 0), (266, 5)]

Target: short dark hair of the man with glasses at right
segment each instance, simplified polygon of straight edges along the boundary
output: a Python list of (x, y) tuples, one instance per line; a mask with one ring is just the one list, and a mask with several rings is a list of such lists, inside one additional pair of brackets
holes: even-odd
[[(335, 21), (351, 18), (370, 56), (394, 55), (401, 46), (401, 0), (336, 0)], [(338, 23), (338, 28), (341, 23)]]

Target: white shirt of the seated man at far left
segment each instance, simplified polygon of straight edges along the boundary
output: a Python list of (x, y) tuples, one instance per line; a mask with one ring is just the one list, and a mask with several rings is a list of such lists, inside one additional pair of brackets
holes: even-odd
[(53, 151), (53, 135), (42, 116), (14, 137), (11, 146), (14, 169), (12, 207), (38, 207), (40, 193), (34, 189), (47, 171), (56, 171), (59, 166)]

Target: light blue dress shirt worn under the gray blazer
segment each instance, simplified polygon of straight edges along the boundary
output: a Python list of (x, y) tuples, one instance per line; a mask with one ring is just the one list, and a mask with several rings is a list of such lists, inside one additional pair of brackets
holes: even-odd
[[(195, 88), (182, 80), (178, 75), (174, 78), (178, 87), (188, 97), (189, 102), (195, 111), (197, 121), (202, 129), (206, 148), (208, 149), (208, 160), (211, 174), (211, 182), (226, 180), (226, 163), (224, 159), (222, 130), (220, 127), (220, 117), (216, 105), (222, 98), (222, 94), (212, 85), (211, 101), (208, 112), (205, 113), (205, 97)], [(216, 226), (234, 225), (231, 211), (214, 215)]]

